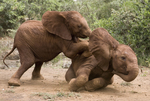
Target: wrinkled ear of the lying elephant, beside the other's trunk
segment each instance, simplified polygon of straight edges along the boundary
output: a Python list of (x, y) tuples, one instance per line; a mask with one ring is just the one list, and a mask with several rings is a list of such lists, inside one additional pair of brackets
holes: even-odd
[(115, 40), (104, 28), (95, 29), (89, 37), (89, 50), (99, 63), (103, 71), (109, 68), (112, 49), (117, 47)]

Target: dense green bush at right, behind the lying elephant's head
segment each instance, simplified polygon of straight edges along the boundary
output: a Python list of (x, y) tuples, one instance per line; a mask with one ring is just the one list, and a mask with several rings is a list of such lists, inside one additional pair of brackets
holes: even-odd
[(95, 26), (106, 28), (122, 44), (136, 52), (140, 65), (150, 65), (150, 2), (127, 0), (119, 10), (112, 10), (108, 19)]

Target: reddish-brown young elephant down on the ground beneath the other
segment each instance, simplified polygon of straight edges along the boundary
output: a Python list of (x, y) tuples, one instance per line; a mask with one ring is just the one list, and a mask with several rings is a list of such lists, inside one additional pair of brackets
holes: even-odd
[(137, 57), (127, 45), (119, 44), (105, 29), (95, 29), (89, 38), (90, 57), (82, 55), (72, 59), (66, 72), (69, 89), (77, 91), (84, 87), (94, 91), (113, 82), (113, 75), (130, 82), (138, 73)]

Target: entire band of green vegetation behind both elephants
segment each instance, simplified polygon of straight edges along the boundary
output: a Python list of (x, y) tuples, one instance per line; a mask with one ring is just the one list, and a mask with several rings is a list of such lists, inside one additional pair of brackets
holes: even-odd
[(0, 0), (0, 36), (14, 36), (21, 23), (48, 10), (80, 12), (92, 30), (107, 29), (150, 67), (150, 0)]

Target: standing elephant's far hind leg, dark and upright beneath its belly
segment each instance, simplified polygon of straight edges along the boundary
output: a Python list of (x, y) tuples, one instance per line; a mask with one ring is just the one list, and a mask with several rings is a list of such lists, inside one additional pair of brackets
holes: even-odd
[(35, 67), (34, 67), (34, 70), (32, 72), (32, 80), (43, 80), (44, 77), (40, 74), (40, 70), (41, 70), (41, 67), (43, 65), (43, 62), (36, 62), (35, 63)]

